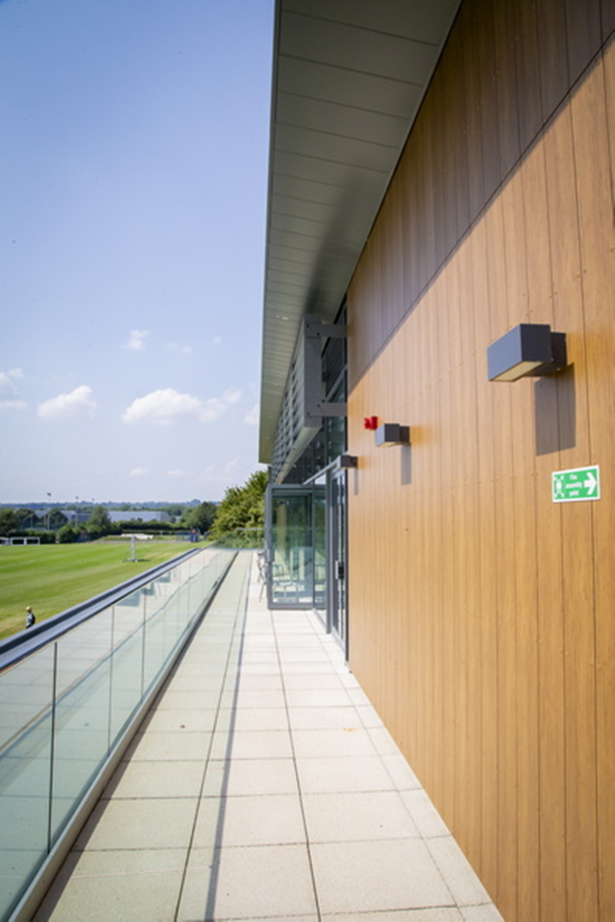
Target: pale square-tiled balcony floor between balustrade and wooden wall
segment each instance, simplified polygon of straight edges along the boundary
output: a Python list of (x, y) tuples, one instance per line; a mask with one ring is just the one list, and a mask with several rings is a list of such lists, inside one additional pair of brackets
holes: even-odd
[(336, 642), (243, 552), (36, 922), (499, 919)]

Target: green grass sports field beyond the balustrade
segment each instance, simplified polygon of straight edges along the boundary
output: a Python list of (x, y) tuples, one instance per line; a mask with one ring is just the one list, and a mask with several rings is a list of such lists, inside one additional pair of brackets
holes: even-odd
[(139, 541), (129, 562), (130, 541), (0, 547), (0, 638), (23, 630), (26, 606), (37, 623), (124, 583), (195, 545)]

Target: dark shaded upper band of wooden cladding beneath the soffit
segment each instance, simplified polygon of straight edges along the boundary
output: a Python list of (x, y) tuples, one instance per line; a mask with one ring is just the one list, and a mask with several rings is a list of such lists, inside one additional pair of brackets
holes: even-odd
[(462, 4), (369, 241), (365, 259), (385, 260), (387, 281), (354, 320), (351, 385), (614, 28), (615, 0)]

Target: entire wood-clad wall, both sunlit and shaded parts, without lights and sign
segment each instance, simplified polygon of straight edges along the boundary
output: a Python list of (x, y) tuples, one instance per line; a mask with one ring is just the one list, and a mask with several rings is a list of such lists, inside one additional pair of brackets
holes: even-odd
[[(349, 289), (350, 664), (507, 922), (615, 918), (612, 8), (462, 6)], [(568, 369), (489, 384), (522, 322)]]

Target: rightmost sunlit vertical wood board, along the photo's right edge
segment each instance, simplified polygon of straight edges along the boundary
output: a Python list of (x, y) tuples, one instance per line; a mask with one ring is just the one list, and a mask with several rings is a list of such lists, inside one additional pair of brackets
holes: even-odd
[[(611, 46), (612, 49), (613, 46)], [(615, 330), (612, 323), (612, 301), (607, 292), (612, 290), (615, 278), (615, 229), (613, 227), (613, 197), (611, 185), (611, 156), (609, 149), (609, 122), (605, 92), (605, 67), (613, 66), (615, 54), (610, 52), (605, 62), (593, 69), (572, 100), (574, 158), (576, 165), (576, 191), (579, 211), (579, 239), (581, 251), (581, 288), (585, 320), (586, 377), (591, 387), (588, 401), (589, 443), (588, 454), (600, 463), (605, 472), (603, 496), (605, 500), (591, 504), (593, 538), (593, 582), (596, 593), (595, 621), (585, 625), (585, 633), (578, 636), (578, 621), (571, 644), (578, 648), (583, 660), (576, 674), (587, 697), (596, 698), (594, 722), (581, 727), (584, 760), (579, 773), (589, 774), (584, 793), (594, 796), (596, 814), (591, 803), (583, 803), (585, 840), (590, 847), (590, 833), (595, 832), (593, 844), (597, 846), (596, 861), (599, 871), (599, 892), (594, 892), (593, 880), (584, 881), (580, 897), (584, 911), (595, 910), (603, 918), (615, 915), (615, 882), (611, 873), (615, 866), (615, 810), (613, 808), (612, 773), (615, 765), (615, 682), (613, 658), (615, 652), (613, 632), (613, 598), (615, 597), (615, 529), (612, 525), (612, 458), (615, 449), (613, 420), (615, 417)], [(611, 72), (612, 78), (612, 72)], [(610, 188), (611, 195), (604, 195)], [(610, 459), (610, 463), (608, 461)], [(605, 463), (606, 462), (606, 463)], [(606, 502), (605, 502), (606, 501)], [(595, 633), (590, 634), (590, 628)], [(594, 664), (597, 664), (597, 672)], [(593, 701), (592, 701), (593, 703)], [(581, 716), (581, 715), (580, 715)], [(594, 727), (596, 728), (594, 730)], [(596, 732), (596, 739), (594, 738)], [(591, 761), (590, 761), (591, 760)], [(591, 781), (590, 781), (591, 779)], [(608, 780), (609, 779), (609, 780)], [(579, 777), (578, 783), (581, 782)], [(589, 827), (589, 818), (593, 825)], [(597, 901), (597, 902), (596, 902)]]

